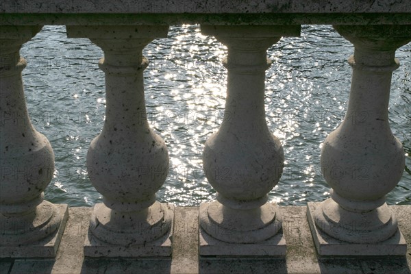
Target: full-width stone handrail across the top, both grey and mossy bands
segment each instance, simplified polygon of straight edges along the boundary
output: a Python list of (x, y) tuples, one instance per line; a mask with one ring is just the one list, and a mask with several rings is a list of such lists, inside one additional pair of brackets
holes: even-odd
[(3, 0), (0, 12), (0, 25), (411, 24), (411, 5), (395, 0)]

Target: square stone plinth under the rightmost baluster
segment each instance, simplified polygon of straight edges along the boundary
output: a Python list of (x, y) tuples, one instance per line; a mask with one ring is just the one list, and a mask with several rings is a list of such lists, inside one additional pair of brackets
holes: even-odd
[(358, 244), (337, 240), (318, 229), (314, 223), (314, 212), (320, 203), (307, 204), (307, 218), (317, 252), (321, 256), (405, 256), (406, 240), (397, 232), (384, 242)]

